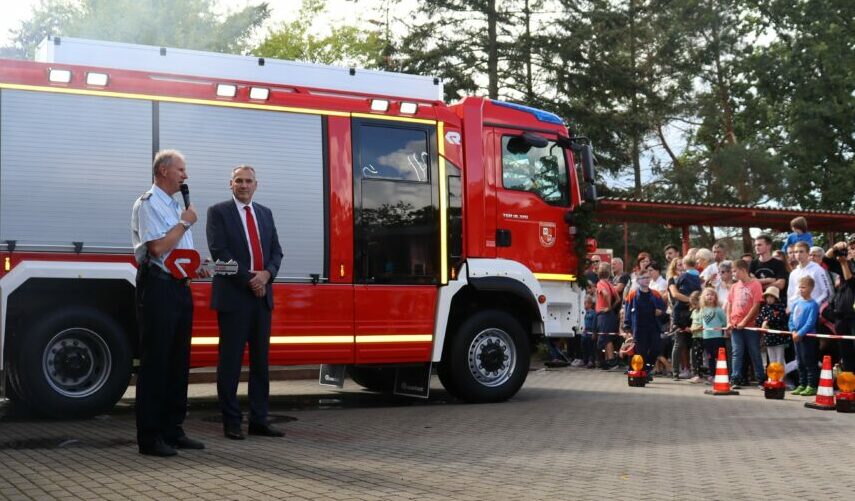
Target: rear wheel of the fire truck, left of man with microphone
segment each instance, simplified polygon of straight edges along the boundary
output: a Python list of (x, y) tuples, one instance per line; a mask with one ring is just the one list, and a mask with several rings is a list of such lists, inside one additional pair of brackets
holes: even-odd
[(110, 410), (131, 377), (131, 346), (110, 316), (75, 307), (40, 320), (20, 338), (21, 397), (38, 414), (86, 417)]

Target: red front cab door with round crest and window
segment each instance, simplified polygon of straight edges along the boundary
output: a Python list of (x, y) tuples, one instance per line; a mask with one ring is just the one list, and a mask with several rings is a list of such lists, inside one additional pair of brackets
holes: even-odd
[[(556, 137), (537, 133), (544, 147), (531, 146), (522, 131), (493, 129), (496, 175), (496, 254), (537, 274), (571, 274), (572, 240), (564, 214), (570, 209), (565, 150)], [(532, 133), (533, 134), (533, 133)]]

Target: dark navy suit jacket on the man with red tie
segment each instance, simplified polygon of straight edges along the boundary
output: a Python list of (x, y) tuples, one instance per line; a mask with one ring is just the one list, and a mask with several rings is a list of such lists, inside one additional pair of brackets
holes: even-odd
[[(273, 213), (270, 209), (255, 202), (252, 203), (252, 207), (261, 237), (263, 267), (270, 272), (271, 276), (264, 299), (267, 307), (272, 310), (273, 278), (279, 273), (279, 266), (282, 264), (282, 247), (279, 245), (279, 234), (276, 232), (276, 225), (273, 224)], [(214, 276), (211, 308), (217, 311), (234, 311), (255, 295), (249, 288), (249, 280), (252, 278), (249, 242), (246, 240), (243, 221), (233, 199), (208, 208), (206, 231), (211, 258), (223, 261), (234, 259), (238, 263), (236, 275)]]

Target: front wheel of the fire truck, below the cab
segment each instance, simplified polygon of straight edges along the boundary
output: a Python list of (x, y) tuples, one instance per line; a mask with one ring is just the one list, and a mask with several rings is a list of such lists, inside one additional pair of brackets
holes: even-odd
[(528, 336), (519, 322), (503, 311), (485, 310), (460, 325), (437, 373), (461, 400), (501, 402), (522, 387), (529, 357)]

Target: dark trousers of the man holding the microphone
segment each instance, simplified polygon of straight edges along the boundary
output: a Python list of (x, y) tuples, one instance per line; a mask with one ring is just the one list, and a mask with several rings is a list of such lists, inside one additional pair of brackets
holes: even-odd
[(183, 283), (153, 275), (138, 298), (140, 368), (137, 373), (137, 443), (184, 435), (193, 298)]

